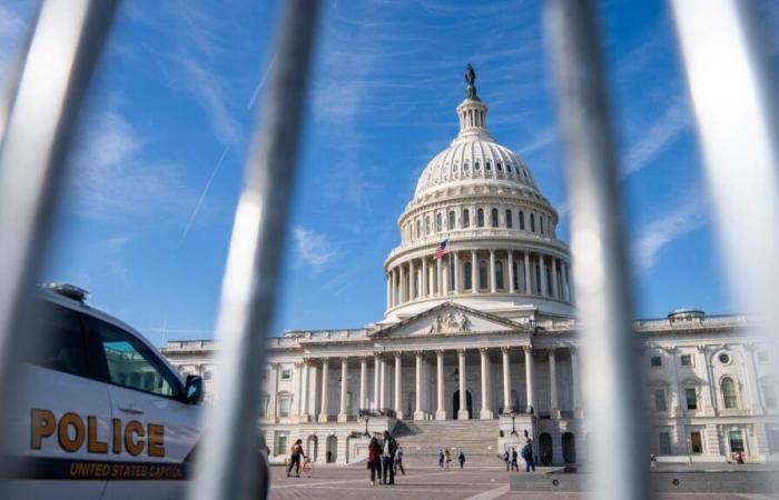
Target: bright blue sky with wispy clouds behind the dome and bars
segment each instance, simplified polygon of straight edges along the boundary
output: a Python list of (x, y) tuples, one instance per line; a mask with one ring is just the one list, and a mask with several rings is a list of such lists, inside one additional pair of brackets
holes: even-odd
[[(32, 8), (0, 4), (0, 74)], [(124, 2), (41, 280), (83, 286), (157, 343), (211, 336), (276, 13), (273, 1)], [(637, 317), (731, 312), (668, 7), (604, 1), (600, 16)], [(326, 2), (272, 334), (381, 319), (382, 262), (418, 174), (456, 133), (469, 61), (491, 132), (530, 166), (568, 240), (542, 19), (538, 1)]]

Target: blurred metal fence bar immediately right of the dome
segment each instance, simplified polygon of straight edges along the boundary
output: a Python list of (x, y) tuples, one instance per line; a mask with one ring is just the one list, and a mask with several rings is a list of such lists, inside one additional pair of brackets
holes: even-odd
[(588, 442), (596, 443), (588, 448), (595, 464), (589, 488), (601, 500), (648, 498), (639, 346), (594, 9), (590, 0), (550, 0), (546, 7), (571, 204), (584, 417)]

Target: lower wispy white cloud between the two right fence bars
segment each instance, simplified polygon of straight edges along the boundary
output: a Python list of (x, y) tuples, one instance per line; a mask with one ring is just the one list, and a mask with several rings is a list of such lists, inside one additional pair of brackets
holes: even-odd
[(642, 273), (652, 270), (663, 248), (706, 223), (707, 200), (701, 193), (688, 193), (682, 203), (653, 220), (633, 247), (634, 261)]

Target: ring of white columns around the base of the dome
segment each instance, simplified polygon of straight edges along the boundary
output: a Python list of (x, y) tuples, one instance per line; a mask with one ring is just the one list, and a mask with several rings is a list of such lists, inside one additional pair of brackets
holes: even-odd
[(570, 263), (512, 249), (452, 250), (441, 259), (414, 258), (386, 274), (387, 308), (414, 300), (466, 293), (520, 293), (572, 302)]

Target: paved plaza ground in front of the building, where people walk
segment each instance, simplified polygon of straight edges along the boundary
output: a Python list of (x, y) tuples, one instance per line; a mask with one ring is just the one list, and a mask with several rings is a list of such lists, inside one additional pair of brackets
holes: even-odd
[[(549, 469), (535, 473), (543, 473)], [(514, 472), (516, 473), (516, 472)], [(524, 472), (520, 472), (524, 473)], [(532, 472), (531, 472), (532, 473)], [(337, 499), (337, 500), (574, 500), (582, 493), (510, 492), (509, 472), (490, 469), (435, 468), (407, 470), (395, 479), (394, 486), (374, 487), (369, 471), (362, 467), (317, 467), (312, 478), (287, 478), (280, 467), (272, 468), (270, 500)], [(660, 494), (660, 500), (767, 500), (762, 494), (673, 493)]]

